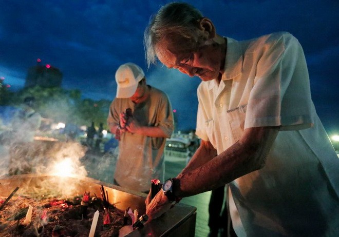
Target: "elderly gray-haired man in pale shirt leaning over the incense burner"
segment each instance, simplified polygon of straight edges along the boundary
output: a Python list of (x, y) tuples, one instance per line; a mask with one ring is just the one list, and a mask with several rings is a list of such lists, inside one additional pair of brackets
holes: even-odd
[(311, 101), (303, 49), (286, 32), (238, 42), (185, 3), (162, 7), (145, 31), (157, 58), (203, 81), (190, 163), (146, 207), (229, 184), (239, 236), (339, 236), (339, 160)]

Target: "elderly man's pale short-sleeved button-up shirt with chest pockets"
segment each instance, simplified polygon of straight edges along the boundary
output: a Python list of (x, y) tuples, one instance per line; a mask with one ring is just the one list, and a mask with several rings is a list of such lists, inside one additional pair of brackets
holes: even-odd
[(228, 38), (222, 81), (202, 82), (198, 100), (196, 134), (218, 154), (246, 128), (281, 126), (265, 167), (230, 183), (238, 236), (339, 236), (339, 160), (315, 112), (296, 38)]

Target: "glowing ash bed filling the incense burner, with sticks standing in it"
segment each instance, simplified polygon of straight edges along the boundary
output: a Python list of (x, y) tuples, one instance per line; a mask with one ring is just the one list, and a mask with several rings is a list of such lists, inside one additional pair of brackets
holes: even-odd
[[(5, 198), (0, 196), (0, 203)], [(99, 210), (95, 236), (119, 236), (123, 227), (124, 211), (110, 205), (110, 224), (103, 225), (104, 209), (100, 199), (92, 198), (87, 208), (87, 219), (81, 214), (81, 196), (71, 199), (56, 199), (14, 196), (0, 211), (0, 237), (13, 236), (88, 236), (93, 215)], [(24, 225), (28, 206), (33, 207), (32, 219)], [(127, 225), (131, 225), (129, 218)], [(54, 232), (53, 232), (54, 229)]]

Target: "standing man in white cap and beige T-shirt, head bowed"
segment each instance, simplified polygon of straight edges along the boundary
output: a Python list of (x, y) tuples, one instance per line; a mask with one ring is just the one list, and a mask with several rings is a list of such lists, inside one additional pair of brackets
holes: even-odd
[[(148, 192), (152, 179), (164, 178), (166, 137), (174, 129), (173, 111), (167, 95), (146, 84), (143, 70), (133, 63), (121, 65), (116, 72), (118, 84), (107, 124), (119, 137), (119, 159), (115, 184)], [(126, 109), (131, 114), (126, 116)]]

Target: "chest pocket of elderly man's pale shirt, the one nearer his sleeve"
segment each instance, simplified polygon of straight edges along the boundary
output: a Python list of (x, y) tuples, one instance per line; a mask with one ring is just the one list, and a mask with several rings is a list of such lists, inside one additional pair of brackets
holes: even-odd
[(238, 141), (243, 133), (245, 118), (246, 118), (246, 105), (240, 105), (239, 107), (230, 109), (227, 111), (230, 127), (234, 141)]

